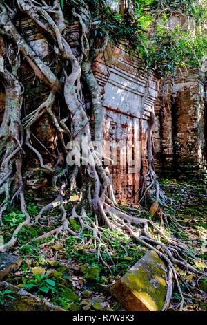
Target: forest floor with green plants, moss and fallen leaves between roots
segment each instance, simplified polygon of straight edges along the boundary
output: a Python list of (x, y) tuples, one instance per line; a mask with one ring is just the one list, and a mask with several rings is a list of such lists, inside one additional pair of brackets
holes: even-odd
[[(189, 263), (203, 272), (206, 271), (207, 249), (205, 238), (207, 236), (207, 186), (201, 182), (186, 183), (178, 180), (160, 180), (166, 194), (179, 201), (180, 207), (167, 211), (175, 216), (177, 223), (170, 223), (170, 231), (167, 234), (179, 239), (188, 245), (188, 255), (195, 258)], [(34, 201), (32, 192), (28, 192), (28, 211), (32, 216), (37, 215), (39, 208), (37, 201)], [(48, 197), (48, 200), (50, 198)], [(72, 209), (71, 202), (66, 206), (68, 216)], [(144, 216), (152, 218), (146, 208)], [(119, 241), (119, 231), (113, 231), (113, 241), (110, 243), (113, 256), (112, 273), (101, 264), (95, 252), (88, 252), (83, 244), (74, 236), (48, 239), (34, 242), (31, 239), (44, 232), (55, 228), (57, 222), (57, 209), (50, 212), (47, 223), (39, 225), (28, 225), (22, 228), (18, 234), (18, 241), (15, 248), (10, 252), (18, 252), (23, 258), (21, 267), (11, 273), (6, 281), (19, 287), (25, 288), (38, 297), (46, 298), (48, 301), (61, 306), (66, 310), (123, 310), (119, 303), (110, 295), (110, 286), (119, 279), (129, 268), (134, 265), (146, 253), (146, 248), (135, 243), (132, 239), (125, 239), (126, 245), (123, 248)], [(91, 216), (92, 217), (92, 216)], [(19, 210), (10, 208), (3, 216), (4, 225), (1, 227), (0, 235), (4, 240), (10, 239), (12, 230), (23, 220), (24, 216)], [(73, 230), (80, 228), (75, 219), (69, 219)], [(159, 219), (153, 217), (153, 221), (159, 225)], [(109, 230), (106, 228), (105, 237), (107, 240)], [(90, 236), (85, 231), (83, 236)], [(21, 248), (20, 248), (21, 247)], [(20, 248), (19, 250), (17, 250)], [(197, 311), (207, 310), (206, 291), (207, 278), (199, 281), (195, 275), (184, 270), (177, 269), (179, 281), (184, 292), (184, 310)], [(46, 281), (50, 279), (51, 281)], [(175, 310), (180, 295), (175, 292), (172, 296), (170, 310)]]

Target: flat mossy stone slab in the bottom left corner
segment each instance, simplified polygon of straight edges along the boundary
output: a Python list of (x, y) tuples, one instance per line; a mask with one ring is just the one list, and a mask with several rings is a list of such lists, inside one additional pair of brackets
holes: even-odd
[(14, 299), (6, 299), (6, 303), (0, 306), (0, 311), (64, 311), (62, 308), (52, 305), (44, 299), (39, 299), (6, 281), (0, 282), (0, 291), (4, 290), (11, 290), (10, 295)]

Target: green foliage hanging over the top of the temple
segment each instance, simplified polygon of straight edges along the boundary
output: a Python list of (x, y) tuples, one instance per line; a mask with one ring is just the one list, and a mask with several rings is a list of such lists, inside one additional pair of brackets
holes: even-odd
[[(207, 37), (203, 28), (207, 21), (205, 1), (136, 0), (133, 17), (127, 11), (124, 15), (115, 12), (103, 0), (87, 2), (92, 8), (92, 16), (101, 17), (95, 37), (103, 38), (108, 33), (115, 44), (127, 41), (130, 52), (139, 55), (146, 70), (152, 68), (161, 75), (173, 75), (178, 66), (201, 67), (207, 53)], [(178, 8), (195, 20), (193, 30), (184, 30), (179, 24), (170, 28), (168, 23), (173, 11)]]

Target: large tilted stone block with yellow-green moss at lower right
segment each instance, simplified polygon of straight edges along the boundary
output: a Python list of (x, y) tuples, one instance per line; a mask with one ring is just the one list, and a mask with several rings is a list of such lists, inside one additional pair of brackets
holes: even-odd
[(166, 297), (166, 268), (157, 253), (148, 252), (110, 290), (129, 311), (158, 311)]

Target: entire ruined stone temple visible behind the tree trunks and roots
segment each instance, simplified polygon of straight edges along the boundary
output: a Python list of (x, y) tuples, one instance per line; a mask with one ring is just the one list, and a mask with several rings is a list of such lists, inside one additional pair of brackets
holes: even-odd
[[(170, 24), (173, 26), (177, 23), (183, 28), (193, 26), (188, 17), (175, 12)], [(30, 19), (22, 18), (19, 26), (37, 55), (38, 48), (41, 48), (41, 53), (42, 47), (45, 49), (44, 60), (49, 64), (50, 45), (34, 23)], [(72, 50), (78, 55), (78, 21), (68, 25), (66, 33)], [(207, 177), (204, 71), (183, 68), (177, 71), (174, 78), (165, 80), (155, 77), (152, 71), (146, 75), (141, 71), (138, 57), (135, 54), (130, 55), (126, 44), (108, 44), (105, 52), (95, 59), (93, 71), (103, 100), (103, 120), (100, 127), (104, 130), (105, 154), (114, 160), (112, 151), (115, 147), (117, 151), (117, 161), (108, 167), (117, 201), (131, 201), (139, 191), (142, 176), (146, 174), (148, 124), (153, 110), (157, 117), (153, 133), (157, 173), (167, 177), (183, 177), (188, 174), (202, 179)], [(29, 77), (30, 68), (25, 64), (21, 79), (25, 82)], [(34, 79), (27, 82), (25, 91), (26, 100), (23, 105), (29, 112), (34, 100), (41, 104), (42, 94), (46, 93), (46, 89), (43, 89), (34, 76)], [(1, 112), (4, 109), (4, 97), (3, 87), (0, 86), (0, 120), (3, 117)], [(87, 91), (85, 100), (87, 110)], [(90, 115), (89, 111), (87, 113)], [(44, 117), (35, 125), (34, 133), (38, 132), (42, 134), (43, 144), (52, 148), (55, 129)], [(38, 142), (37, 139), (34, 141)], [(47, 160), (48, 155), (45, 154), (42, 151), (43, 158)], [(131, 155), (132, 164), (123, 163), (124, 155)], [(61, 152), (59, 157), (61, 159)], [(36, 162), (33, 163), (35, 168)]]

